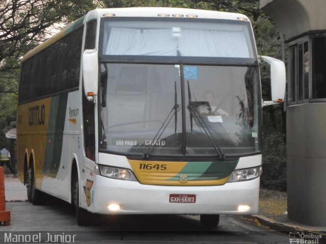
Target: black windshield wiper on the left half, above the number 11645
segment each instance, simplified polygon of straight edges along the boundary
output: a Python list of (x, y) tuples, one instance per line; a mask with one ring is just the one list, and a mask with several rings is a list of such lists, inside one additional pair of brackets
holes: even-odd
[(163, 134), (163, 132), (165, 131), (165, 129), (167, 128), (167, 126), (169, 125), (173, 115), (175, 118), (175, 129), (174, 129), (174, 133), (177, 133), (177, 113), (180, 110), (181, 106), (179, 104), (177, 104), (177, 85), (176, 85), (176, 81), (174, 82), (174, 106), (171, 109), (170, 113), (168, 114), (167, 118), (164, 120), (163, 124), (161, 125), (161, 127), (158, 129), (156, 135), (154, 136), (154, 138), (152, 140), (150, 140), (150, 144), (149, 146), (146, 148), (145, 153), (142, 156), (142, 159), (148, 159), (152, 150), (155, 147), (155, 143), (156, 141), (158, 141), (161, 137), (161, 135)]

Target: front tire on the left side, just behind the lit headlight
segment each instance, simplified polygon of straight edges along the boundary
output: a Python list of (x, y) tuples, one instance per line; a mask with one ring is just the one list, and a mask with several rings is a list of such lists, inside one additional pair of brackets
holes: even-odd
[(75, 207), (76, 221), (79, 226), (89, 225), (89, 212), (84, 208), (79, 207), (79, 181), (78, 176), (74, 176), (73, 181), (73, 205)]

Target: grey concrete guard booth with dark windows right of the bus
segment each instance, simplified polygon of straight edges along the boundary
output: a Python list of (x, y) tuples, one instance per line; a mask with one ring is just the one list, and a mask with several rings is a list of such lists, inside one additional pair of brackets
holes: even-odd
[(287, 47), (288, 218), (326, 226), (326, 1), (260, 0)]

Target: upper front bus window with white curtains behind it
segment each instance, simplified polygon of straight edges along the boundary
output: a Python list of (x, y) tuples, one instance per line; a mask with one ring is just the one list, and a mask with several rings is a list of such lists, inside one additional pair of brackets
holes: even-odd
[(246, 21), (117, 19), (103, 19), (102, 55), (254, 57)]

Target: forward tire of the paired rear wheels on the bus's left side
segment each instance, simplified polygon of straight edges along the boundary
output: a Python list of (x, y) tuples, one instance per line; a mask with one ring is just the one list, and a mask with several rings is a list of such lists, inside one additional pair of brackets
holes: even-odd
[(31, 167), (29, 167), (26, 176), (27, 176), (27, 180), (26, 180), (27, 198), (29, 202), (31, 202), (33, 205), (45, 204), (46, 202), (45, 194), (43, 194), (42, 192), (40, 192), (35, 188), (35, 183), (34, 183), (35, 174), (34, 174), (33, 164), (31, 165)]

